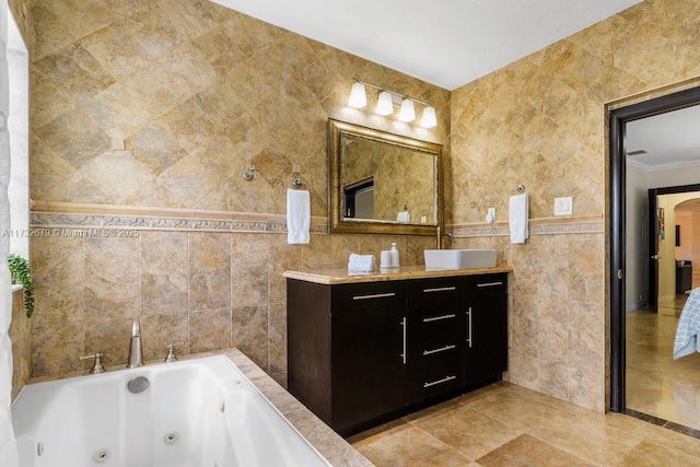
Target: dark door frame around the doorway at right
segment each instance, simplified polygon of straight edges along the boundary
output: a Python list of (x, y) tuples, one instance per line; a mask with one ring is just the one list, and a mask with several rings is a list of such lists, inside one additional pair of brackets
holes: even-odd
[(626, 124), (700, 104), (700, 86), (609, 110), (610, 407), (625, 410)]

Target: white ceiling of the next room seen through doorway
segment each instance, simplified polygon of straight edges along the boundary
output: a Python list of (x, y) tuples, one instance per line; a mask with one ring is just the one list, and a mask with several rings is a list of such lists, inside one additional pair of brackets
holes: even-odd
[(626, 132), (631, 165), (654, 171), (700, 164), (700, 105), (630, 121)]

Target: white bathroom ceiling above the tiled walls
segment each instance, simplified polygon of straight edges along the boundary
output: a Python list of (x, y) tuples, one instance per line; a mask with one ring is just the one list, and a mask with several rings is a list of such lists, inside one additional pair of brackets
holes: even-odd
[(641, 0), (214, 1), (452, 91)]

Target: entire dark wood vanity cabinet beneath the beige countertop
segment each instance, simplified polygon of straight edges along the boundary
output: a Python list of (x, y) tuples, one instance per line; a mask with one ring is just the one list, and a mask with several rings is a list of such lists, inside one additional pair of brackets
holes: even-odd
[(319, 284), (288, 279), (288, 388), (341, 434), (500, 377), (505, 273)]

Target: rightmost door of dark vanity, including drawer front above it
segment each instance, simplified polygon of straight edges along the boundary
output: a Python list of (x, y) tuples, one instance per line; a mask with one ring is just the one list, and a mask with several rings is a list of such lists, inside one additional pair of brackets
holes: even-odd
[(476, 277), (465, 319), (464, 378), (474, 385), (508, 370), (508, 279)]

